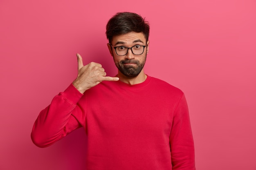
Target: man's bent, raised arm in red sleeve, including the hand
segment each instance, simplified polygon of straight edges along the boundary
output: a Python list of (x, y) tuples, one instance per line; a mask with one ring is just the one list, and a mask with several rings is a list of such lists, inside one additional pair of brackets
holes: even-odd
[(50, 146), (83, 125), (82, 115), (85, 113), (76, 104), (86, 90), (102, 81), (119, 80), (118, 77), (107, 77), (101, 64), (91, 62), (83, 66), (81, 55), (77, 54), (77, 59), (77, 78), (64, 92), (54, 97), (34, 123), (31, 139), (38, 147)]

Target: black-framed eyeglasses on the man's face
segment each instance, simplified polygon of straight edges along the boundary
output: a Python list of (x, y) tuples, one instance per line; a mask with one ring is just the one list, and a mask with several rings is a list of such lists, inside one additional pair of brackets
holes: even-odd
[[(111, 45), (111, 44), (110, 44)], [(111, 45), (112, 46), (112, 45)], [(113, 47), (113, 46), (112, 46)], [(132, 47), (127, 46), (115, 46), (113, 47), (117, 53), (117, 55), (126, 55), (128, 53), (128, 50), (132, 50), (132, 54), (134, 55), (141, 55), (144, 53), (146, 45), (135, 45)]]

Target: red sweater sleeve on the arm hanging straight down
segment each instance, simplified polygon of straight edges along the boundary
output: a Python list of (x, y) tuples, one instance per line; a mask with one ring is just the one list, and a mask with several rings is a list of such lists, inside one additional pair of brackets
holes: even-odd
[(195, 170), (194, 142), (184, 94), (173, 114), (170, 145), (173, 170)]

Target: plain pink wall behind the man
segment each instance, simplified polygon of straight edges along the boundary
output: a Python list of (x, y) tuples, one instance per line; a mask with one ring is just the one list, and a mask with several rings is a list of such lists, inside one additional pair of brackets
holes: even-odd
[(36, 147), (33, 123), (84, 64), (117, 69), (105, 26), (116, 12), (150, 22), (145, 66), (184, 91), (197, 170), (256, 170), (255, 0), (0, 0), (0, 170), (82, 170), (83, 129)]

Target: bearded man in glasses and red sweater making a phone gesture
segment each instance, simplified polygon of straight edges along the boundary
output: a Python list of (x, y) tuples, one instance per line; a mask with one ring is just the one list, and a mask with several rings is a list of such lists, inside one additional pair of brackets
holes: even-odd
[(78, 76), (40, 112), (34, 144), (50, 146), (83, 127), (88, 170), (195, 170), (184, 94), (144, 73), (148, 23), (117, 13), (106, 29), (117, 76), (107, 77), (99, 63), (84, 66), (77, 54)]

